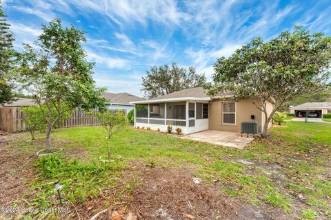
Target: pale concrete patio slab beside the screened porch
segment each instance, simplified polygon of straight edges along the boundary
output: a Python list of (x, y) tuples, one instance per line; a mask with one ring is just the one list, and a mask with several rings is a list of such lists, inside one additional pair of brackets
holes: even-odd
[(239, 149), (244, 148), (248, 143), (254, 140), (253, 137), (241, 137), (240, 133), (214, 130), (191, 133), (190, 135), (185, 135), (182, 138), (208, 142), (210, 144), (230, 146)]

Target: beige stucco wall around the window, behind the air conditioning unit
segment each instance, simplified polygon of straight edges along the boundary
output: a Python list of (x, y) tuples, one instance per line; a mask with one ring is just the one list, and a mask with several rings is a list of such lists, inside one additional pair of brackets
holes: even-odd
[[(241, 122), (251, 121), (250, 115), (254, 115), (254, 121), (258, 122), (259, 133), (261, 132), (261, 111), (251, 102), (251, 100), (237, 101), (236, 124), (223, 124), (222, 122), (222, 100), (212, 100), (209, 110), (209, 129), (219, 131), (240, 132)], [(271, 113), (272, 104), (268, 103), (267, 111)], [(271, 123), (269, 124), (271, 126)]]

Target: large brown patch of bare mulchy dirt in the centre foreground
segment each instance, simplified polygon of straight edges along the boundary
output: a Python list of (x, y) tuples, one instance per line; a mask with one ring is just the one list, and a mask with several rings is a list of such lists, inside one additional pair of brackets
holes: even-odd
[[(288, 219), (277, 209), (265, 212), (238, 198), (224, 195), (194, 177), (188, 170), (134, 166), (126, 173), (127, 181), (135, 179), (131, 188), (102, 192), (99, 199), (86, 201), (77, 208), (82, 219), (89, 219), (105, 208), (106, 201), (117, 206), (106, 207), (96, 219)], [(126, 188), (126, 190), (124, 190)], [(117, 197), (117, 199), (114, 199)], [(112, 203), (110, 202), (110, 203)]]

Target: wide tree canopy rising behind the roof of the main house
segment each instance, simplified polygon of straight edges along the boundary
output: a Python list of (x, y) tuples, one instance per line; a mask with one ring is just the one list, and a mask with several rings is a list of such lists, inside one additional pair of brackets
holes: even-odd
[(142, 89), (146, 98), (154, 98), (182, 89), (201, 87), (205, 83), (205, 75), (197, 74), (194, 67), (181, 68), (176, 63), (171, 67), (154, 66), (146, 71)]

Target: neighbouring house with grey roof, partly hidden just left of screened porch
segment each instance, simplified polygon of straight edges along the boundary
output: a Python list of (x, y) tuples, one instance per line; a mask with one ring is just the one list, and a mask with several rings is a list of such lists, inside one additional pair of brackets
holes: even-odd
[(134, 105), (130, 104), (130, 102), (145, 100), (145, 98), (141, 98), (138, 96), (133, 96), (126, 92), (122, 92), (119, 94), (112, 94), (110, 92), (103, 93), (103, 97), (108, 100), (106, 103), (106, 107), (109, 109), (126, 109), (128, 113), (130, 110), (134, 109)]

